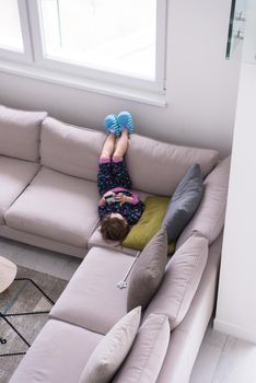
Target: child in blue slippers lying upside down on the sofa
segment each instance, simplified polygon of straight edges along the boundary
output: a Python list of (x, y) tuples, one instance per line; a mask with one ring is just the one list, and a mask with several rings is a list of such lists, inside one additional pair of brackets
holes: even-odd
[(129, 135), (133, 132), (130, 113), (106, 116), (105, 128), (107, 138), (97, 174), (97, 187), (102, 196), (98, 201), (101, 232), (104, 239), (123, 242), (144, 210), (144, 204), (131, 192), (131, 179), (124, 159)]

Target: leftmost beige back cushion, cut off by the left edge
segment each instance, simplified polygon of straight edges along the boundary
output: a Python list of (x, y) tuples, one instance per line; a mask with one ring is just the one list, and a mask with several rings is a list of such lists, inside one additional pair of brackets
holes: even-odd
[(25, 112), (0, 105), (0, 154), (21, 160), (39, 158), (40, 124), (45, 112)]

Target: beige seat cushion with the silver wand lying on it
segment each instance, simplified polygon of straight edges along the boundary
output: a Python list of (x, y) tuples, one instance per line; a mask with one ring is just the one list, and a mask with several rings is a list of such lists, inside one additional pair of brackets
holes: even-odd
[(117, 283), (132, 260), (120, 252), (102, 247), (90, 249), (50, 316), (106, 334), (127, 313), (128, 289), (119, 289)]

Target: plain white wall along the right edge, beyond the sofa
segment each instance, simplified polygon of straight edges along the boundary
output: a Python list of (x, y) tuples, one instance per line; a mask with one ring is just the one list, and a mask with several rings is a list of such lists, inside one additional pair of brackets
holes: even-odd
[(214, 327), (256, 343), (256, 66), (244, 65), (234, 129)]

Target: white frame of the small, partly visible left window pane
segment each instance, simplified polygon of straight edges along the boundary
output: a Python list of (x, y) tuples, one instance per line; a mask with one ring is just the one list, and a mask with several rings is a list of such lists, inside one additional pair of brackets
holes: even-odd
[(18, 62), (31, 62), (33, 60), (33, 53), (26, 0), (18, 0), (18, 8), (24, 51), (0, 47), (0, 57)]

